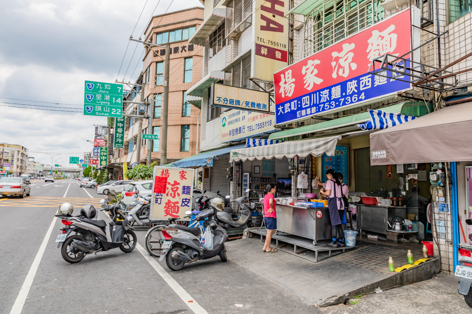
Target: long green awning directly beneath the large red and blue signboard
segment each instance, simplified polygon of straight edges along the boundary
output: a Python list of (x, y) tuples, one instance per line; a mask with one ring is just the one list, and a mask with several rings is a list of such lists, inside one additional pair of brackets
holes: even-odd
[[(403, 103), (398, 103), (396, 105), (382, 108), (382, 111), (393, 113), (393, 114), (402, 114), (402, 115), (407, 115), (407, 116), (412, 116), (412, 117), (421, 117), (428, 114), (429, 112), (432, 112), (433, 110), (432, 108), (433, 108), (432, 104), (430, 103), (426, 105), (424, 102), (423, 103), (403, 102)], [(369, 121), (370, 119), (371, 119), (371, 116), (369, 112), (366, 111), (360, 114), (333, 119), (330, 121), (325, 121), (325, 122), (317, 123), (314, 125), (300, 126), (300, 127), (296, 127), (296, 128), (292, 128), (288, 130), (283, 130), (280, 132), (275, 132), (269, 135), (269, 139), (292, 137), (292, 136), (298, 136), (298, 135), (303, 135), (303, 134), (308, 134), (308, 133), (316, 133), (316, 132), (339, 129), (339, 128), (350, 127), (350, 126), (352, 126), (352, 129), (355, 130), (355, 129), (358, 129), (355, 127), (356, 124), (364, 123), (366, 121)]]

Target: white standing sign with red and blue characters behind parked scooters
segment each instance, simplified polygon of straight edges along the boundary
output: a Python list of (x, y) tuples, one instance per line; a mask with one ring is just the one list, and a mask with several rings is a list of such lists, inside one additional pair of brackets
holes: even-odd
[(192, 210), (194, 169), (154, 167), (151, 219), (167, 220), (186, 216)]

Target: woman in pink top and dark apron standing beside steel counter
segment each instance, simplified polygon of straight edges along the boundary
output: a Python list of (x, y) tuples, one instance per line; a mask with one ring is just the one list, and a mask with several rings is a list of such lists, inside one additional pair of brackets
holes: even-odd
[[(328, 169), (326, 171), (326, 189), (322, 188), (319, 193), (328, 196), (329, 218), (331, 219), (332, 242), (328, 246), (337, 248), (344, 247), (344, 235), (341, 226), (341, 217), (344, 213), (344, 201), (342, 199), (342, 185), (337, 173)], [(341, 214), (342, 213), (342, 214)]]

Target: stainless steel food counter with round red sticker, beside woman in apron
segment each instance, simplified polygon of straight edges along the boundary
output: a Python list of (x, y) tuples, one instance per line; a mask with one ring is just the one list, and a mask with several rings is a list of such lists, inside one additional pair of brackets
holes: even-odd
[[(277, 231), (316, 241), (331, 239), (327, 207), (302, 207), (276, 204)], [(319, 216), (319, 217), (318, 217)]]

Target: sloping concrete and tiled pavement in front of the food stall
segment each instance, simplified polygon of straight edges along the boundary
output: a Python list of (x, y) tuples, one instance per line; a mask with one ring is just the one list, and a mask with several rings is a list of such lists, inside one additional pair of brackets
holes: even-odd
[(407, 250), (412, 250), (415, 260), (421, 258), (419, 244), (379, 245), (358, 241), (358, 249), (333, 254), (317, 263), (303, 258), (310, 252), (297, 256), (281, 250), (265, 253), (262, 246), (258, 237), (226, 244), (231, 261), (320, 307), (373, 293), (379, 286), (387, 290), (429, 279), (439, 262), (428, 260), (400, 273), (388, 271), (389, 256), (394, 258), (395, 267), (407, 263)]

